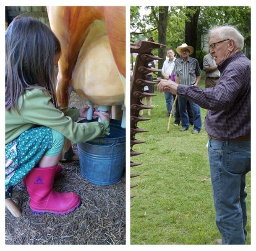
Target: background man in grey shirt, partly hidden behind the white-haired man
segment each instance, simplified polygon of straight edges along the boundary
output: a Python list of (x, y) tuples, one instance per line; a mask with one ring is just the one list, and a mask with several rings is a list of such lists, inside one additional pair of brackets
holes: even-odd
[(214, 87), (219, 79), (220, 72), (210, 53), (203, 58), (203, 70), (205, 71), (205, 88)]

